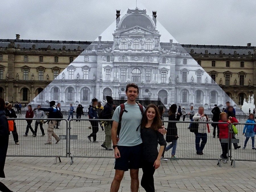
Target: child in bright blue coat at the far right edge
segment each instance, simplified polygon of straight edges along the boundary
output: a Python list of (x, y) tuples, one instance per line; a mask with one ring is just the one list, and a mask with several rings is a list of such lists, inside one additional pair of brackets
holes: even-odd
[[(250, 114), (249, 115), (249, 119), (245, 123), (255, 123), (254, 115)], [(254, 133), (253, 129), (254, 129), (254, 125), (245, 125), (244, 126), (244, 128), (243, 128), (243, 135), (246, 137), (246, 139), (244, 141), (243, 149), (245, 149), (246, 144), (249, 141), (250, 137), (251, 137), (251, 145), (252, 145), (251, 148), (255, 149), (254, 148), (254, 136), (255, 136), (255, 133)]]

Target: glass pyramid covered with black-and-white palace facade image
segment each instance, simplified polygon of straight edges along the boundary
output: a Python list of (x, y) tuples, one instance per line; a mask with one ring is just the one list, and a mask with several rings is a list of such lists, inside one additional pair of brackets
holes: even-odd
[(125, 100), (125, 86), (135, 82), (140, 101), (210, 109), (235, 103), (187, 51), (145, 9), (128, 9), (67, 66), (30, 104), (86, 109), (92, 98)]

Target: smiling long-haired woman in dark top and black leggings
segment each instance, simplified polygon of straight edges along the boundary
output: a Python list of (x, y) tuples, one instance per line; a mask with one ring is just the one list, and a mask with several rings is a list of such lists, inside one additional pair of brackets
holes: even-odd
[[(164, 151), (166, 141), (164, 136), (158, 132), (162, 127), (160, 114), (154, 104), (148, 105), (141, 123), (141, 139), (143, 144), (143, 175), (141, 186), (146, 192), (154, 192), (154, 172), (160, 167), (160, 158)], [(157, 150), (160, 144), (159, 152)]]

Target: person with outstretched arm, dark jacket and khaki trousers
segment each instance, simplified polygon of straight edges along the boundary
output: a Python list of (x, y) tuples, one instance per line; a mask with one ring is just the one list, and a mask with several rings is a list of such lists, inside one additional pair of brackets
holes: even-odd
[[(59, 118), (59, 117), (57, 117), (57, 114), (59, 114), (59, 111), (57, 110), (57, 107), (55, 106), (55, 101), (50, 102), (49, 108), (40, 108), (40, 110), (49, 112), (49, 115), (48, 115), (49, 119), (58, 119)], [(57, 125), (57, 121), (49, 120), (47, 124), (48, 124), (48, 129), (47, 129), (48, 140), (45, 144), (46, 145), (51, 144), (52, 136), (56, 139), (56, 144), (57, 144), (60, 141), (60, 139), (57, 136), (57, 134), (54, 133), (54, 131), (53, 131), (54, 126)]]

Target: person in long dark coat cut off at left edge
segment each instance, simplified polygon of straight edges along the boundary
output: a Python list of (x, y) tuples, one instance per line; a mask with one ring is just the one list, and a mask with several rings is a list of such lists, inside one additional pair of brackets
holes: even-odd
[[(5, 159), (9, 143), (9, 125), (5, 116), (5, 101), (0, 97), (0, 177), (5, 178)], [(0, 182), (0, 191), (11, 192)]]

